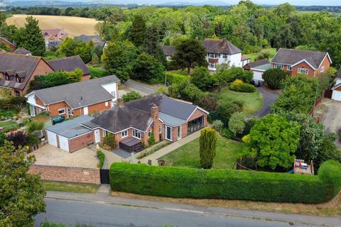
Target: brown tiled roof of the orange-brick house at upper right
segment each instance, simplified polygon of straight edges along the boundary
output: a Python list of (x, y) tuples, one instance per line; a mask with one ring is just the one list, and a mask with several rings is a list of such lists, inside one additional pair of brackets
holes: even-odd
[(271, 63), (295, 65), (296, 63), (305, 60), (315, 69), (318, 69), (326, 56), (328, 56), (330, 60), (328, 52), (280, 48), (278, 52), (276, 52), (274, 58), (271, 60)]

